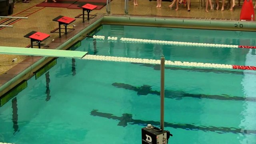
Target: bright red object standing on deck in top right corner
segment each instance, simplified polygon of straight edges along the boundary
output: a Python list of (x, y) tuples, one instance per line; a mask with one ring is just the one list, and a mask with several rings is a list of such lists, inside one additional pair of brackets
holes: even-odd
[[(253, 17), (252, 17), (253, 16)], [(253, 20), (254, 21), (254, 8), (252, 0), (244, 0), (244, 4), (240, 13), (240, 20)]]

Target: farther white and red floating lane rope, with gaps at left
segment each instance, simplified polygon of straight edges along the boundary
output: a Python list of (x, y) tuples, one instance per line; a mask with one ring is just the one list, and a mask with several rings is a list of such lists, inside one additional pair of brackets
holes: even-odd
[[(105, 36), (93, 36), (94, 39), (104, 40)], [(117, 41), (117, 37), (108, 36), (109, 41)], [(147, 40), (138, 38), (120, 38), (121, 42), (126, 43), (149, 43), (149, 44), (166, 44), (166, 45), (182, 45), (182, 46), (203, 46), (203, 47), (218, 47), (218, 48), (256, 48), (256, 46), (238, 46), (230, 44), (208, 44), (208, 43), (197, 43), (197, 42), (175, 42), (166, 40)]]

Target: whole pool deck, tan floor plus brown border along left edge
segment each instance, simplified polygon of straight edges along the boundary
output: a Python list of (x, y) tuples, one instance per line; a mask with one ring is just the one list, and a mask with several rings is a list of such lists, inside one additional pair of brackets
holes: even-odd
[[(58, 23), (54, 22), (52, 19), (57, 16), (68, 16), (74, 18), (78, 14), (82, 13), (80, 9), (69, 9), (69, 8), (49, 8), (49, 7), (37, 7), (42, 0), (32, 0), (30, 3), (17, 2), (14, 8), (14, 13), (11, 16), (18, 17), (28, 17), (28, 19), (20, 19), (12, 21), (13, 28), (0, 28), (0, 46), (12, 46), (12, 47), (26, 47), (30, 44), (28, 38), (24, 38), (24, 35), (31, 31), (43, 32), (50, 34), (50, 38), (43, 41), (44, 45), (48, 45), (48, 49), (56, 49), (61, 46), (64, 42), (78, 34), (84, 28), (90, 26), (98, 18), (101, 18), (106, 13), (106, 8), (103, 7), (101, 10), (93, 10), (90, 14), (96, 14), (96, 18), (90, 20), (90, 22), (82, 23), (82, 18), (76, 18), (76, 21), (70, 24), (68, 28), (73, 28), (72, 32), (67, 35), (63, 35), (58, 38), (58, 33), (50, 33), (58, 27)], [(237, 21), (240, 16), (241, 6), (236, 6), (233, 11), (225, 9), (220, 10), (210, 10), (210, 12), (205, 12), (204, 8), (199, 6), (199, 2), (191, 2), (191, 11), (188, 12), (186, 8), (180, 6), (179, 10), (176, 12), (174, 8), (168, 8), (170, 2), (162, 2), (162, 8), (156, 8), (156, 1), (138, 1), (139, 6), (133, 6), (133, 2), (129, 1), (129, 15), (130, 16), (140, 16), (140, 17), (156, 17), (156, 18), (190, 18), (190, 19), (200, 19), (200, 20), (224, 20), (224, 21)], [(221, 4), (220, 4), (221, 6)], [(124, 16), (124, 0), (112, 0), (111, 2), (111, 14), (116, 16)], [(0, 19), (3, 22), (5, 19)], [(9, 21), (10, 22), (10, 21)], [(5, 25), (9, 22), (2, 23)], [(85, 36), (81, 36), (85, 37)], [(71, 46), (74, 43), (70, 43), (66, 46)], [(64, 49), (66, 49), (64, 48)], [(12, 62), (14, 58), (17, 58), (17, 62)], [(32, 69), (32, 65), (38, 60), (41, 60), (42, 56), (17, 56), (17, 55), (4, 55), (0, 57), (0, 86), (3, 86), (7, 82), (10, 82), (12, 78), (23, 72), (24, 70), (31, 68), (29, 73), (26, 73), (20, 77), (20, 80), (11, 82), (8, 88), (1, 90), (0, 96), (8, 92), (11, 88), (17, 85), (24, 79), (28, 79), (33, 76), (33, 72), (49, 62), (52, 58), (45, 58), (44, 62)]]

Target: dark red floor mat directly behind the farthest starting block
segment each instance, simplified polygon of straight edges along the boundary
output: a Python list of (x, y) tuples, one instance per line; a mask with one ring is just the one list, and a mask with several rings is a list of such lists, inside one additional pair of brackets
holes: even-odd
[[(79, 4), (93, 4), (93, 5), (98, 6), (96, 8), (96, 10), (100, 10), (101, 8), (103, 8), (106, 5), (106, 2), (107, 2), (106, 0), (78, 0), (71, 6), (68, 6), (68, 8), (79, 8), (78, 7)], [(80, 8), (80, 9), (82, 9), (82, 8)]]

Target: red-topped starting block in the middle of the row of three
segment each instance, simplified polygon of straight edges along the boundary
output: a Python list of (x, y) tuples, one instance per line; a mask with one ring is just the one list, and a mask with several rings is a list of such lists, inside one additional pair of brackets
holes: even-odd
[[(76, 19), (70, 18), (70, 17), (67, 17), (67, 16), (58, 16), (58, 17), (54, 18), (53, 21), (59, 22), (59, 27), (52, 30), (51, 33), (56, 32), (56, 30), (59, 30), (59, 38), (60, 38), (61, 33), (65, 33), (65, 34), (68, 33), (67, 29), (74, 30), (74, 28), (67, 28), (67, 26), (68, 26), (68, 24), (71, 24), (75, 20)], [(65, 28), (60, 27), (62, 24), (65, 26)], [(65, 32), (61, 32), (61, 29), (65, 29)]]

